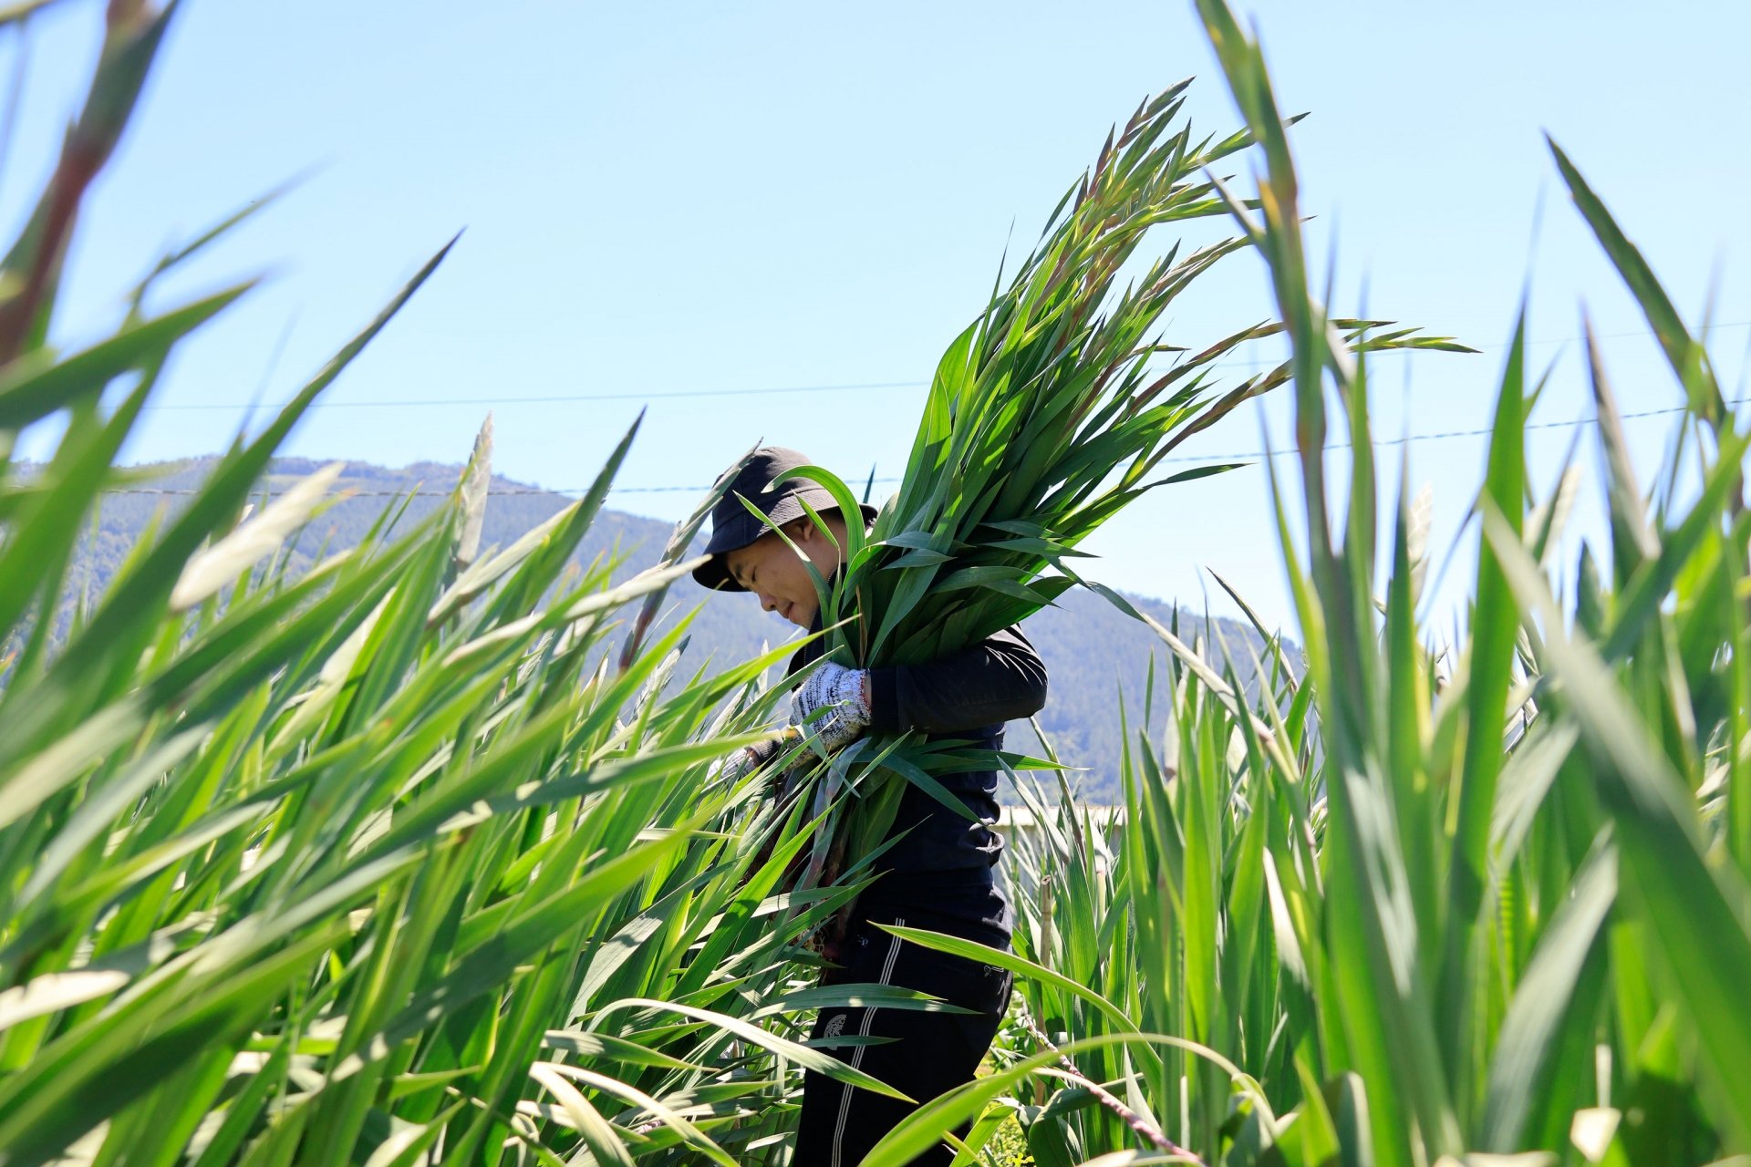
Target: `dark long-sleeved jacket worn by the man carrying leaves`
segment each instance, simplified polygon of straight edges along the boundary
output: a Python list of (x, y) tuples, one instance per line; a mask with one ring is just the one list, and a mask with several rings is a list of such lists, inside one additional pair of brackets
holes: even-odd
[[(816, 614), (814, 632), (819, 632)], [(811, 640), (791, 660), (795, 674), (821, 656)], [(1003, 723), (1031, 717), (1045, 705), (1045, 665), (1021, 635), (1005, 628), (970, 649), (928, 665), (870, 670), (870, 731), (921, 731), (926, 738), (1003, 747)], [(918, 786), (907, 784), (891, 835), (905, 838), (883, 854), (888, 875), (872, 894), (940, 889), (951, 873), (989, 882), (1003, 840), (986, 824), (998, 815), (995, 770), (937, 775), (982, 822), (968, 822)], [(870, 894), (865, 896), (868, 899)]]

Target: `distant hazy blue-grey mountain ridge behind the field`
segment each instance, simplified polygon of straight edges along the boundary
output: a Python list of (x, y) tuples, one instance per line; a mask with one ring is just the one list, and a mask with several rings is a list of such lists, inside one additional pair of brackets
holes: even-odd
[[(89, 595), (96, 595), (107, 586), (154, 514), (173, 513), (186, 499), (175, 492), (198, 486), (210, 465), (210, 458), (198, 458), (138, 467), (152, 469), (151, 486), (165, 493), (112, 493), (105, 499), (89, 535), (81, 541), (81, 551), (70, 572), (74, 588), (89, 588)], [(280, 458), (273, 464), (268, 483), (287, 486), (320, 465), (322, 462), (310, 458)], [(310, 525), (294, 548), (294, 570), (313, 563), (322, 555), (324, 546), (334, 551), (359, 542), (383, 516), (385, 507), (397, 504), (396, 495), (415, 488), (431, 492), (408, 500), (397, 525), (403, 528), (411, 525), (441, 504), (441, 493), (448, 492), (459, 472), (457, 465), (432, 462), (399, 469), (348, 464), (340, 485), (359, 493), (338, 502)], [(492, 488), (518, 493), (494, 493), (489, 499), (482, 532), (483, 549), (511, 544), (531, 527), (571, 502), (564, 495), (546, 493), (504, 478), (494, 478)], [(667, 539), (667, 523), (604, 509), (585, 537), (578, 558), (588, 563), (599, 555), (623, 555), (625, 563), (616, 570), (616, 577), (625, 577), (653, 563)], [(1136, 595), (1126, 598), (1154, 619), (1173, 625), (1175, 612), (1170, 604)], [(695, 604), (702, 604), (702, 611), (692, 625), (688, 644), (688, 654), (695, 661), (746, 660), (760, 653), (763, 646), (779, 644), (797, 635), (795, 628), (774, 614), (762, 612), (746, 595), (702, 593), (690, 586), (678, 586), (671, 593), (671, 618), (674, 612), (692, 611)], [(65, 614), (61, 618), (65, 619)], [(1203, 618), (1185, 609), (1178, 612), (1178, 626), (1185, 640), (1201, 637), (1208, 642), (1213, 639)], [(1262, 651), (1259, 635), (1248, 625), (1217, 619), (1215, 626), (1234, 653), (1240, 668), (1245, 668), (1245, 661), (1250, 661), (1252, 656), (1245, 646)], [(1024, 632), (1045, 660), (1051, 677), (1051, 698), (1040, 714), (1040, 726), (1061, 761), (1086, 770), (1073, 779), (1082, 800), (1091, 803), (1119, 801), (1121, 700), (1135, 731), (1142, 723), (1150, 656), (1164, 654), (1166, 647), (1149, 628), (1107, 600), (1080, 590), (1065, 595), (1058, 607), (1033, 616), (1024, 625)], [(1220, 660), (1220, 653), (1212, 651), (1212, 658)], [(1292, 651), (1290, 658), (1299, 660), (1299, 653)], [(1254, 688), (1250, 675), (1245, 675), (1245, 686)], [(1157, 695), (1157, 710), (1161, 700)], [(1159, 712), (1156, 723), (1159, 730)], [(1037, 738), (1026, 724), (1012, 724), (1007, 744), (1014, 751), (1038, 752)]]

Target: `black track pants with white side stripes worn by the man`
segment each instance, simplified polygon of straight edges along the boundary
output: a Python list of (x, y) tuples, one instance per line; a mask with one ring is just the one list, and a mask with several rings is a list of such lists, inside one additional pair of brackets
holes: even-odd
[[(911, 919), (907, 919), (911, 917)], [(883, 924), (905, 924), (937, 933), (967, 934), (965, 926), (930, 913), (879, 913)], [(991, 945), (995, 936), (974, 934)], [(1005, 945), (1007, 948), (1007, 945)], [(942, 997), (951, 1004), (975, 1010), (965, 1013), (921, 1013), (918, 1010), (851, 1008), (821, 1010), (814, 1022), (814, 1041), (833, 1057), (874, 1074), (919, 1102), (974, 1080), (981, 1059), (1009, 1006), (1010, 975), (995, 964), (981, 964), (932, 952), (902, 941), (870, 920), (858, 922), (846, 936), (844, 969), (828, 975), (832, 983), (900, 985)], [(844, 1036), (893, 1038), (881, 1045), (846, 1045)], [(807, 1073), (802, 1088), (802, 1118), (797, 1129), (797, 1153), (791, 1167), (854, 1167), (876, 1143), (912, 1106), (868, 1090), (854, 1090), (821, 1074)], [(965, 1134), (961, 1129), (958, 1134)], [(914, 1158), (914, 1164), (949, 1164), (954, 1158), (946, 1143)]]

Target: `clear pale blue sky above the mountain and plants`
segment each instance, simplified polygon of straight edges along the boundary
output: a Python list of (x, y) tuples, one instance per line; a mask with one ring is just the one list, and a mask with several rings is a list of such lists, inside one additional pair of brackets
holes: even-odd
[[(7, 226), (89, 75), (100, 9), (63, 0), (32, 24), (21, 131), (0, 184)], [(1604, 192), (1686, 313), (1700, 317), (1716, 289), (1714, 352), (1739, 388), (1751, 339), (1751, 5), (1243, 9), (1262, 31), (1280, 101), (1311, 114), (1296, 145), (1313, 252), (1338, 257), (1334, 310), (1366, 306), (1487, 350), (1380, 360), (1376, 432), (1487, 423), (1529, 278), (1534, 357), (1558, 360), (1539, 420), (1586, 413), (1567, 343), (1583, 301), (1613, 338), (1623, 408), (1677, 404), (1630, 299), (1562, 198), (1541, 129)], [(7, 42), (0, 66), (16, 54)], [(315, 166), (165, 289), (170, 303), (271, 273), (189, 348), (161, 399), (221, 408), (159, 409), (130, 458), (219, 450), (257, 390), (284, 399), (466, 227), (291, 453), (461, 460), (487, 406), (345, 402), (492, 399), (499, 471), (571, 488), (648, 397), (625, 486), (707, 483), (756, 437), (847, 476), (872, 465), (897, 474), (918, 383), (982, 306), (1012, 226), (1017, 247), (1030, 243), (1108, 124), (1191, 73), (1194, 124), (1231, 129), (1229, 98), (1182, 0), (189, 0), (89, 206), (60, 336), (110, 322), (119, 292), (166, 243)], [(1168, 339), (1203, 345), (1268, 315), (1262, 268), (1243, 255), (1201, 283)], [(907, 385), (727, 394), (893, 381)], [(683, 390), (725, 395), (662, 399)], [(629, 399), (504, 401), (580, 394)], [(1283, 444), (1287, 404), (1236, 415), (1189, 450), (1254, 451), (1261, 423)], [(1632, 423), (1632, 434), (1651, 462), (1669, 423)], [(1541, 485), (1571, 436), (1532, 439)], [(1411, 457), (1413, 478), (1436, 486), (1443, 553), (1483, 444), (1417, 443)], [(690, 502), (615, 499), (660, 518)], [(1289, 618), (1257, 469), (1168, 488), (1093, 549), (1107, 556), (1098, 574), (1119, 586), (1201, 604), (1201, 569), (1212, 567), (1269, 619)]]

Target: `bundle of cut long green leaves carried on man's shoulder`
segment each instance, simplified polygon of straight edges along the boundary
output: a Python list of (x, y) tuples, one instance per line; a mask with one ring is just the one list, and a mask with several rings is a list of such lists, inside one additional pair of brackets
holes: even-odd
[[(1191, 124), (1178, 124), (1189, 84), (1147, 100), (1107, 136), (1094, 166), (1052, 210), (1038, 247), (949, 345), (900, 492), (867, 532), (846, 532), (844, 569), (832, 581), (811, 567), (830, 660), (916, 665), (970, 647), (1082, 583), (1068, 563), (1086, 555), (1077, 544), (1143, 493), (1238, 465), (1150, 478), (1187, 437), (1289, 380), (1287, 362), (1226, 388), (1217, 376), (1224, 357), (1282, 332), (1275, 322), (1196, 350), (1152, 336), (1198, 276), (1252, 245), (1247, 233), (1189, 254), (1177, 241), (1142, 262), (1156, 227), (1227, 217), (1210, 166), (1254, 142), (1250, 129), (1194, 140)], [(1355, 348), (1466, 352), (1448, 338), (1387, 331), (1385, 322), (1334, 324)], [(851, 488), (830, 471), (805, 467), (795, 478), (830, 490), (840, 513), (856, 511)], [(932, 779), (968, 765), (960, 751), (872, 742), (847, 751), (846, 761), (904, 775), (970, 814)], [(832, 770), (816, 805), (851, 777)], [(897, 791), (868, 798), (851, 854), (884, 836), (895, 800)]]

